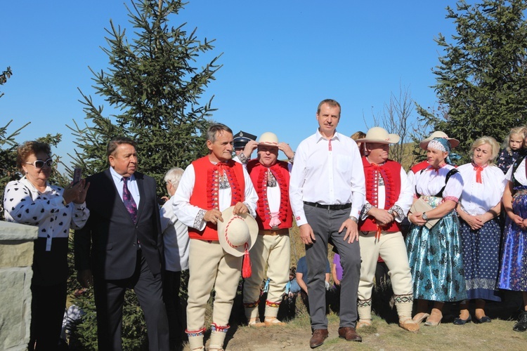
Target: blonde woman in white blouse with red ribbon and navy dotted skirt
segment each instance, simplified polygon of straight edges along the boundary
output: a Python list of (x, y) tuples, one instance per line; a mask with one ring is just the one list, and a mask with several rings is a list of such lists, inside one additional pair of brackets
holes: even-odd
[[(500, 145), (490, 136), (472, 144), (472, 161), (457, 168), (463, 177), (463, 192), (457, 203), (463, 248), (464, 278), (467, 297), (476, 299), (474, 322), (490, 322), (485, 315), (485, 301), (500, 301), (497, 272), (500, 260), (501, 199), (505, 175), (493, 164)], [(472, 320), (468, 300), (460, 304), (460, 317), (454, 324)]]

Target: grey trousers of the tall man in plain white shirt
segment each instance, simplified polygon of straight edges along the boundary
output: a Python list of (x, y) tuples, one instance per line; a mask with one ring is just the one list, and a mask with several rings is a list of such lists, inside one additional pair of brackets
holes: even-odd
[(325, 267), (327, 265), (327, 243), (332, 242), (340, 255), (343, 275), (340, 281), (340, 327), (355, 327), (357, 314), (358, 282), (360, 279), (360, 246), (355, 240), (344, 241), (346, 228), (339, 232), (344, 220), (349, 218), (349, 208), (328, 210), (304, 205), (306, 219), (313, 229), (316, 240), (306, 246), (308, 266), (309, 314), (311, 328), (327, 329), (325, 298)]

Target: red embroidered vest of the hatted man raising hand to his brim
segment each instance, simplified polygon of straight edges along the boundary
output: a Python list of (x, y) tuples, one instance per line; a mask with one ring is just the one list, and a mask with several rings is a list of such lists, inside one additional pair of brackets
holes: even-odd
[(267, 171), (275, 176), (276, 183), (280, 187), (280, 225), (278, 229), (289, 229), (293, 226), (293, 211), (289, 203), (289, 168), (287, 162), (277, 161), (273, 166), (263, 166), (257, 159), (249, 161), (247, 172), (251, 176), (252, 184), (258, 194), (256, 206), (256, 222), (262, 230), (271, 230), (271, 211), (267, 202)]

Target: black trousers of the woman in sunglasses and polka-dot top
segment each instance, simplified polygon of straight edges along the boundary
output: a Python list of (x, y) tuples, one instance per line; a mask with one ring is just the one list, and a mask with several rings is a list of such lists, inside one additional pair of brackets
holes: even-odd
[[(66, 309), (66, 282), (31, 286), (31, 326), (28, 350), (57, 350)], [(8, 303), (8, 301), (3, 301)]]

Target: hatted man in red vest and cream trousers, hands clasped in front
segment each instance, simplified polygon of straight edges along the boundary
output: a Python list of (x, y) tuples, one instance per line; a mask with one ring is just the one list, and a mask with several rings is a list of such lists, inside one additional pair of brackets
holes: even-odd
[(408, 254), (401, 233), (401, 221), (413, 201), (411, 184), (396, 161), (388, 159), (389, 145), (398, 143), (399, 136), (384, 128), (373, 127), (366, 137), (363, 157), (366, 180), (366, 202), (360, 215), (360, 282), (358, 285), (357, 329), (372, 324), (372, 287), (379, 256), (391, 274), (399, 326), (407, 331), (418, 331), (419, 324), (412, 320), (412, 275)]

